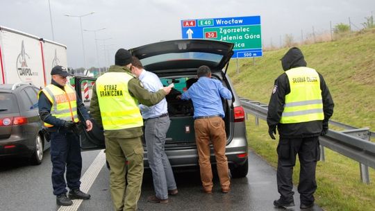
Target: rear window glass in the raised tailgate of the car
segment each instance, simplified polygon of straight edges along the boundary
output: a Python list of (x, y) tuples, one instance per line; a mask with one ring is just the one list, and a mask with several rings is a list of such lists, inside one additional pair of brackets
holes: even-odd
[(223, 56), (215, 53), (203, 52), (184, 52), (184, 53), (164, 53), (156, 56), (150, 56), (141, 60), (142, 65), (146, 66), (153, 63), (165, 62), (171, 60), (206, 60), (216, 65), (222, 60)]

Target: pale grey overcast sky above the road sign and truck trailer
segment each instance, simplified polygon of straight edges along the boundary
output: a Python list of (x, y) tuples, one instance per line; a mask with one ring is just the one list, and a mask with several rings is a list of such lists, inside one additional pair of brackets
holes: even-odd
[[(49, 15), (49, 2), (51, 17)], [(278, 46), (285, 34), (294, 40), (329, 31), (335, 24), (363, 28), (365, 17), (375, 15), (375, 0), (0, 0), (0, 26), (23, 31), (67, 46), (68, 67), (111, 65), (115, 51), (160, 40), (181, 39), (181, 20), (260, 15), (263, 46)], [(97, 30), (98, 54), (94, 32)], [(106, 51), (104, 51), (106, 49)]]

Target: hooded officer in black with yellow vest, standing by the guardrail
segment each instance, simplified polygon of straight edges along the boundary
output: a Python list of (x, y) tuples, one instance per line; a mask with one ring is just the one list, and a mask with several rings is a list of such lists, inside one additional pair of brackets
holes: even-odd
[(268, 105), (269, 136), (274, 140), (276, 127), (280, 140), (277, 146), (277, 188), (281, 195), (274, 201), (278, 207), (294, 206), (292, 174), (299, 155), (298, 192), (300, 208), (314, 205), (315, 168), (319, 160), (319, 135), (328, 132), (328, 119), (333, 115), (333, 100), (321, 74), (306, 67), (300, 49), (293, 47), (283, 58), (285, 73), (278, 76)]

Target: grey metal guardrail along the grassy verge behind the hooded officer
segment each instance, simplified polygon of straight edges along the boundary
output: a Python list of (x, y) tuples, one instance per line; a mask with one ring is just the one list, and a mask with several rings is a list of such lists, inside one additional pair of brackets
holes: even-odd
[[(240, 101), (245, 112), (256, 117), (257, 125), (259, 124), (259, 118), (267, 119), (267, 104), (244, 98), (240, 98)], [(347, 130), (335, 131), (330, 129), (326, 135), (319, 137), (321, 146), (358, 161), (361, 179), (363, 183), (369, 184), (368, 167), (375, 169), (375, 143), (369, 141), (370, 137), (374, 137), (374, 133), (369, 131), (369, 128), (356, 128), (331, 120), (329, 123)], [(322, 161), (325, 160), (324, 147), (321, 147)]]

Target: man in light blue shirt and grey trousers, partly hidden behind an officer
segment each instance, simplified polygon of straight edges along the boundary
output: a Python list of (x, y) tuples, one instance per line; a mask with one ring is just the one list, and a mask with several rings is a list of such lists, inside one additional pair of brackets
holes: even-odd
[[(143, 69), (140, 60), (133, 56), (131, 73), (135, 74), (149, 92), (158, 92), (163, 84), (156, 74)], [(144, 119), (144, 139), (147, 145), (147, 159), (152, 171), (155, 195), (149, 196), (151, 203), (168, 203), (168, 194), (178, 193), (171, 164), (165, 154), (165, 137), (169, 128), (167, 101), (163, 99), (158, 104), (148, 107), (139, 105)]]

